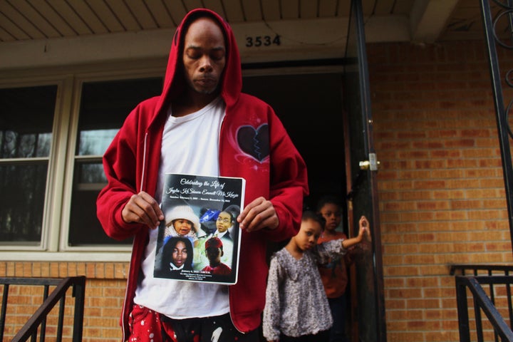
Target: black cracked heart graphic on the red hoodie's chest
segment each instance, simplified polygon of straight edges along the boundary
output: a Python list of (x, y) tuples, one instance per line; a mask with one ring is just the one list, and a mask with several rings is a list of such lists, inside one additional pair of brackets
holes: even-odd
[(257, 129), (242, 126), (237, 132), (237, 143), (242, 152), (261, 162), (269, 155), (269, 125), (264, 124)]

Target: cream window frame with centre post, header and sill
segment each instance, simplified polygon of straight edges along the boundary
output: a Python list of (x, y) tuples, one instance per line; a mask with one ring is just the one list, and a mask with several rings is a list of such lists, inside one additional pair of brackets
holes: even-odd
[[(136, 65), (137, 64), (137, 65)], [(144, 67), (140, 67), (144, 66)], [(56, 86), (52, 145), (48, 157), (41, 240), (36, 245), (2, 244), (4, 261), (129, 261), (131, 245), (68, 246), (73, 172), (77, 159), (101, 160), (102, 155), (75, 155), (83, 83), (163, 77), (165, 61), (105, 63), (26, 71), (1, 71), (0, 88)], [(128, 115), (128, 113), (127, 113)], [(33, 159), (33, 158), (31, 158)], [(0, 163), (8, 160), (0, 160)], [(9, 160), (12, 161), (12, 160)], [(22, 160), (20, 160), (22, 161)], [(83, 252), (90, 252), (84, 254)]]

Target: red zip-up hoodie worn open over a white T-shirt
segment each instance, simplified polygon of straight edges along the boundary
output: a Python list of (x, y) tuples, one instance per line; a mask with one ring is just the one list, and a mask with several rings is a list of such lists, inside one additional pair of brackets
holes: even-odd
[[(149, 231), (146, 225), (125, 223), (121, 212), (130, 197), (140, 191), (155, 196), (167, 108), (185, 87), (177, 76), (185, 33), (182, 28), (197, 16), (217, 20), (226, 38), (227, 61), (221, 85), (226, 114), (219, 133), (220, 175), (246, 179), (244, 204), (265, 197), (279, 217), (276, 229), (242, 231), (239, 277), (237, 284), (229, 286), (230, 316), (239, 331), (252, 331), (261, 323), (268, 270), (266, 242), (281, 241), (298, 232), (303, 198), (308, 195), (306, 165), (274, 110), (262, 100), (241, 93), (241, 63), (232, 29), (212, 11), (190, 11), (172, 39), (162, 94), (142, 101), (128, 115), (103, 156), (108, 185), (98, 195), (98, 219), (109, 237), (134, 237), (121, 317), (123, 341), (128, 338), (128, 315)], [(201, 151), (197, 153), (201, 157)]]

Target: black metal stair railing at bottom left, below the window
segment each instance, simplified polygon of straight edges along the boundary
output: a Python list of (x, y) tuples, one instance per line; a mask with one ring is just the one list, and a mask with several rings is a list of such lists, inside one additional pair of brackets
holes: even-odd
[[(36, 312), (28, 319), (25, 325), (16, 333), (11, 342), (36, 341), (38, 328), (40, 329), (40, 341), (44, 341), (46, 335), (46, 316), (56, 306), (58, 302), (58, 327), (56, 341), (62, 341), (64, 305), (66, 301), (66, 292), (70, 287), (73, 288), (72, 296), (75, 297), (75, 311), (73, 316), (73, 342), (82, 341), (83, 329), (83, 310), (86, 294), (86, 277), (72, 276), (64, 279), (53, 278), (0, 278), (0, 284), (4, 284), (4, 292), (1, 305), (0, 317), (0, 341), (4, 338), (4, 327), (6, 319), (7, 298), (9, 296), (10, 285), (31, 285), (44, 286), (43, 304), (39, 306)], [(48, 296), (49, 286), (56, 286)]]

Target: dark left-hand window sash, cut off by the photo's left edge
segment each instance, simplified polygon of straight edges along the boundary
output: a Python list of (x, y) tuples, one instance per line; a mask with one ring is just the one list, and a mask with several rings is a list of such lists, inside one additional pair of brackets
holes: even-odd
[(0, 89), (0, 244), (39, 246), (57, 86)]

